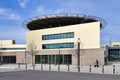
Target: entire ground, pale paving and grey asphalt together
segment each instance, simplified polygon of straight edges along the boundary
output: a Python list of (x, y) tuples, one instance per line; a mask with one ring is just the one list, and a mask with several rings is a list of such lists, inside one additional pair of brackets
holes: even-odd
[(70, 71), (68, 71), (67, 65), (61, 65), (60, 71), (58, 71), (58, 65), (51, 65), (51, 71), (49, 71), (49, 65), (36, 64), (35, 70), (31, 64), (21, 65), (18, 68), (17, 64), (6, 64), (0, 66), (0, 80), (120, 80), (120, 65), (115, 64), (115, 74), (113, 74), (113, 66), (105, 66), (105, 71), (102, 73), (102, 67), (91, 67), (91, 73), (89, 72), (89, 66), (82, 66), (81, 71), (77, 72), (75, 65), (70, 65)]

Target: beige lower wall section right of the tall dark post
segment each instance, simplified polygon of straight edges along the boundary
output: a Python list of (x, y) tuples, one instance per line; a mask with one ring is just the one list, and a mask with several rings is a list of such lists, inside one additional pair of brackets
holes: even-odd
[(104, 65), (104, 48), (81, 50), (81, 65), (95, 65), (98, 60), (99, 65)]

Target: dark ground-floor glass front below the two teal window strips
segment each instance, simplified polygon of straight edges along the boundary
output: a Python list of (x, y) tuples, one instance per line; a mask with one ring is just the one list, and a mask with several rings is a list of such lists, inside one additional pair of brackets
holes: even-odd
[(36, 55), (36, 64), (72, 64), (71, 54), (60, 55)]

